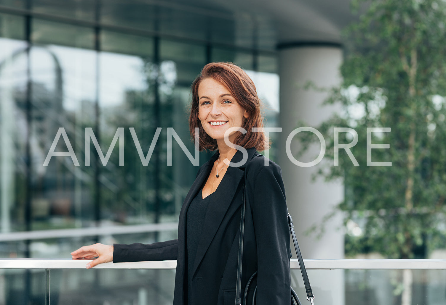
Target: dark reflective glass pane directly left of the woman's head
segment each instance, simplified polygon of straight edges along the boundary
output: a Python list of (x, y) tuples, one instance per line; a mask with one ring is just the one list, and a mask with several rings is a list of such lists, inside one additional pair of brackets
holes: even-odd
[[(173, 79), (169, 90), (160, 92), (161, 125), (172, 127), (181, 138), (191, 155), (194, 155), (194, 144), (190, 140), (188, 125), (188, 106), (191, 101), (190, 85), (206, 64), (206, 48), (203, 45), (178, 43), (161, 40), (160, 43), (161, 68), (165, 81)], [(163, 140), (167, 138), (164, 131)], [(172, 166), (167, 166), (166, 150), (161, 153), (161, 189), (165, 190), (163, 201), (166, 208), (174, 211), (175, 215), (181, 209), (184, 198), (197, 174), (198, 167), (194, 167), (185, 152), (176, 141), (172, 141)], [(200, 164), (209, 158), (209, 153), (200, 153)]]

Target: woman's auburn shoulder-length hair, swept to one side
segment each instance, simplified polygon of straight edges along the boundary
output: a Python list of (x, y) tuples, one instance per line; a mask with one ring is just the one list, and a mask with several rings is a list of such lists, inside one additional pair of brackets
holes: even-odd
[(213, 78), (229, 89), (232, 96), (248, 113), (248, 118), (243, 118), (243, 126), (240, 126), (247, 132), (246, 134), (240, 132), (235, 138), (234, 144), (244, 148), (256, 147), (256, 150), (259, 151), (268, 149), (269, 142), (265, 142), (264, 132), (252, 131), (252, 127), (263, 128), (263, 107), (257, 96), (254, 82), (238, 65), (230, 62), (211, 62), (203, 67), (201, 73), (191, 85), (192, 103), (190, 105), (189, 130), (191, 138), (193, 139), (195, 127), (200, 128), (200, 151), (204, 149), (216, 150), (218, 148), (217, 141), (206, 134), (198, 119), (198, 86), (202, 80), (207, 78)]

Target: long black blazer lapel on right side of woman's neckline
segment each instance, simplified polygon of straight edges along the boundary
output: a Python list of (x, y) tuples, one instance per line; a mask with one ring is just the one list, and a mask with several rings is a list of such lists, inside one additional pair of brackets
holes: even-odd
[[(249, 161), (256, 152), (256, 149), (251, 148), (248, 149), (247, 151), (248, 151), (248, 161)], [(243, 157), (242, 152), (240, 150), (237, 150), (234, 157), (231, 159), (231, 162), (234, 163), (239, 162), (242, 159), (242, 157)], [(248, 161), (246, 163), (248, 163)], [(194, 261), (194, 268), (191, 270), (193, 274), (198, 268), (200, 262), (202, 261), (203, 256), (206, 254), (206, 251), (209, 248), (209, 245), (211, 244), (215, 236), (215, 233), (217, 232), (221, 222), (223, 221), (223, 218), (226, 216), (226, 212), (229, 206), (233, 202), (235, 192), (237, 191), (237, 188), (240, 185), (240, 180), (244, 177), (245, 164), (241, 165), (240, 167), (227, 168), (226, 174), (223, 176), (223, 179), (229, 180), (226, 181), (225, 183), (227, 188), (225, 189), (224, 192), (220, 191), (218, 194), (215, 194), (217, 196), (215, 196), (212, 199), (212, 203), (209, 204), (206, 210), (205, 220), (202, 228), (202, 238), (198, 243), (197, 254), (195, 256), (195, 261)], [(206, 177), (208, 176), (208, 173), (209, 171), (206, 171)], [(238, 206), (240, 206), (241, 204), (241, 201), (235, 204), (237, 206), (234, 208), (238, 208)]]

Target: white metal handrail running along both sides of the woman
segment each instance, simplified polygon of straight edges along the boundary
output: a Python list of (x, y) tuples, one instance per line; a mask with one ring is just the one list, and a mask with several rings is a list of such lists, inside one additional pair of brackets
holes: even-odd
[[(0, 259), (0, 269), (85, 269), (91, 260), (71, 259)], [(446, 269), (446, 260), (304, 260), (307, 269)], [(95, 269), (175, 269), (176, 260), (140, 261), (99, 264)], [(291, 259), (291, 269), (299, 269), (297, 259)]]

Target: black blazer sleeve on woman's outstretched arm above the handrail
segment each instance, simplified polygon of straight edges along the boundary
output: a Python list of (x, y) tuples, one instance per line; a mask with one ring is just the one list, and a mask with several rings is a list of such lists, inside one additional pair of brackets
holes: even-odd
[(113, 244), (113, 263), (176, 260), (178, 258), (178, 239), (160, 241), (153, 244)]

